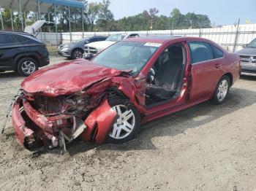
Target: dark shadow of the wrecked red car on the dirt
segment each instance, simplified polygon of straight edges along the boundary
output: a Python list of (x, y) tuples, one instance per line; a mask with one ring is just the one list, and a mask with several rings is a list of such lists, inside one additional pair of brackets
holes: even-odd
[(148, 122), (142, 125), (137, 138), (124, 144), (102, 144), (96, 146), (92, 143), (76, 142), (68, 147), (69, 155), (76, 155), (79, 152), (86, 152), (89, 149), (97, 150), (140, 150), (140, 149), (157, 149), (152, 143), (152, 139), (161, 136), (177, 136), (189, 128), (197, 128), (208, 122), (218, 120), (227, 114), (251, 106), (256, 102), (256, 91), (245, 90), (237, 87), (230, 89), (225, 103), (220, 105), (212, 104), (211, 101), (192, 106), (158, 120)]

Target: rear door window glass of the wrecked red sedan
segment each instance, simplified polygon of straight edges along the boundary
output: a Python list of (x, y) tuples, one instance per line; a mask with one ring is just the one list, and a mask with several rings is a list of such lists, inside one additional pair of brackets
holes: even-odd
[(191, 63), (200, 63), (214, 59), (211, 45), (206, 42), (188, 42)]

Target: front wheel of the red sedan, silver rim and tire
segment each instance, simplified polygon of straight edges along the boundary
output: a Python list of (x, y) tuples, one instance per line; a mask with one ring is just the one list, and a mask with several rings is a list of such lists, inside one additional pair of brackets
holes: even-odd
[(110, 128), (106, 142), (121, 144), (135, 138), (140, 128), (140, 114), (135, 106), (125, 99), (115, 98), (109, 101), (111, 108), (118, 114), (116, 122)]

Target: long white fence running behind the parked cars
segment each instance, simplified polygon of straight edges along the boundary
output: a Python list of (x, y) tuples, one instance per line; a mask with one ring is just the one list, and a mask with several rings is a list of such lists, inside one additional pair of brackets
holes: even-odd
[[(84, 36), (103, 35), (122, 33), (119, 32), (85, 32)], [(182, 30), (164, 30), (164, 31), (129, 31), (137, 32), (140, 36), (157, 36), (157, 35), (175, 35), (175, 36), (199, 36), (220, 44), (226, 50), (241, 50), (242, 45), (248, 44), (256, 38), (256, 24), (236, 26), (222, 26), (221, 28), (201, 28), (201, 29), (182, 29)], [(56, 44), (55, 34), (41, 34), (39, 37), (43, 42)], [(72, 32), (72, 41), (83, 37), (82, 32)], [(49, 38), (49, 39), (48, 39)], [(70, 42), (69, 33), (58, 34), (58, 44)]]

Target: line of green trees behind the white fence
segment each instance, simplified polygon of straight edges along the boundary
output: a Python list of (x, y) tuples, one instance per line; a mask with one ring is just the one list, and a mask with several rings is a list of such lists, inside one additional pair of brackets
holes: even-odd
[[(195, 14), (194, 12), (183, 15), (176, 8), (170, 12), (170, 15), (159, 15), (157, 8), (151, 8), (138, 15), (115, 20), (113, 12), (110, 10), (110, 0), (91, 3), (84, 1), (84, 4), (85, 31), (148, 31), (211, 27), (211, 21), (207, 15)], [(60, 32), (69, 31), (68, 12), (68, 7), (57, 7), (57, 23)], [(10, 9), (2, 11), (4, 29), (12, 29), (11, 14), (15, 30), (21, 30), (19, 12), (11, 12)], [(23, 12), (22, 19), (26, 25), (31, 25), (38, 19), (55, 22), (54, 7), (51, 7), (48, 13), (41, 13), (40, 15), (37, 12)], [(82, 9), (70, 7), (72, 31), (82, 30), (82, 20)]]

